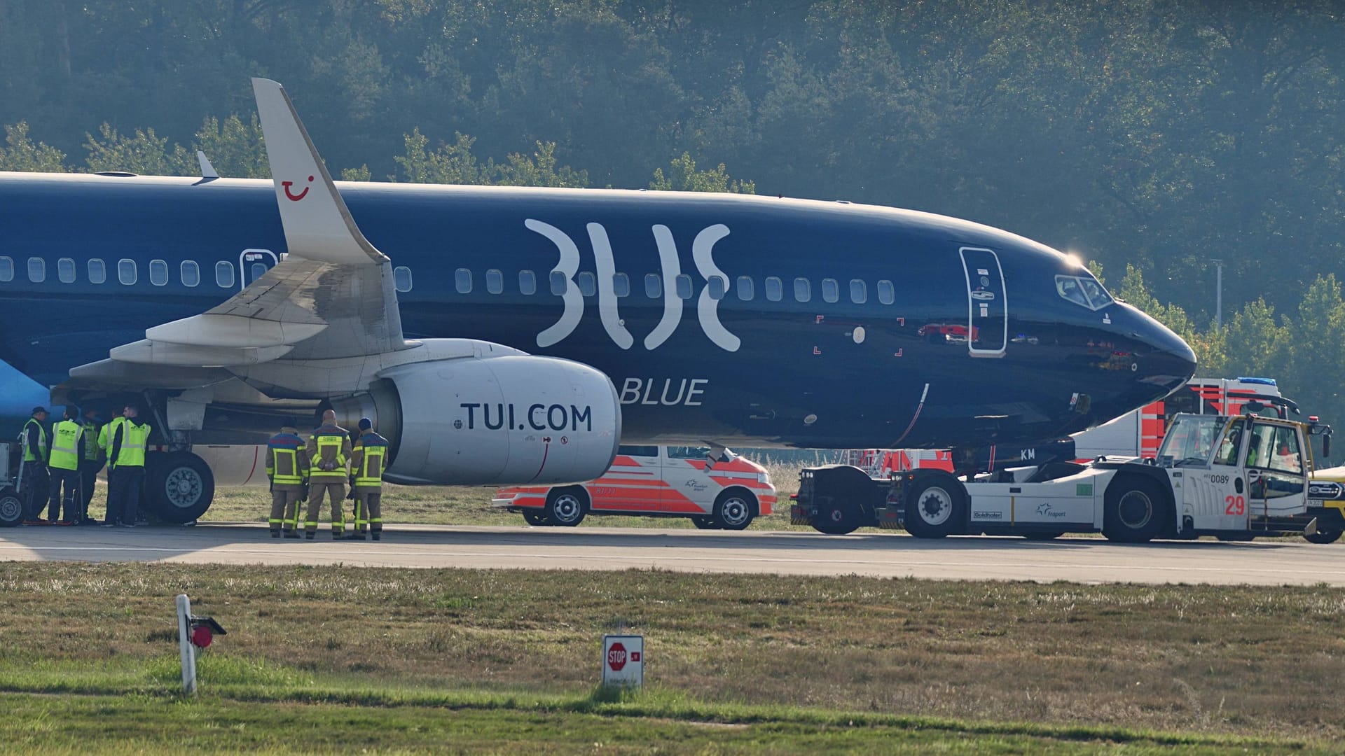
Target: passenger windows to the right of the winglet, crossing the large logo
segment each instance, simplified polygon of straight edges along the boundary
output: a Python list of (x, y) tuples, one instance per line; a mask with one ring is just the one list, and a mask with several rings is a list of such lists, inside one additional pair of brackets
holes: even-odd
[[(410, 270), (406, 272), (408, 276), (408, 289), (410, 288)], [(574, 277), (574, 285), (578, 287), (580, 293), (584, 296), (593, 296), (597, 293), (597, 276), (589, 270)], [(472, 292), (472, 272), (467, 268), (459, 268), (453, 272), (453, 288), (457, 293), (465, 295)], [(562, 296), (569, 289), (570, 278), (560, 270), (553, 270), (547, 287), (550, 292), (555, 296)], [(644, 296), (650, 299), (660, 299), (663, 296), (663, 277), (658, 273), (648, 273), (644, 276)], [(398, 282), (398, 291), (402, 289)], [(710, 299), (724, 299), (729, 291), (729, 282), (726, 278), (720, 276), (710, 276), (706, 281), (706, 289), (710, 292)], [(777, 276), (767, 276), (763, 281), (761, 293), (768, 301), (780, 301), (784, 299), (784, 280)], [(795, 278), (792, 284), (792, 293), (795, 301), (811, 301), (812, 300), (812, 281), (810, 278)], [(841, 300), (841, 282), (835, 278), (822, 278), (822, 300), (823, 301), (839, 301)], [(882, 304), (892, 304), (896, 300), (896, 291), (893, 289), (892, 281), (882, 280), (877, 282), (878, 301)], [(498, 269), (490, 269), (486, 272), (486, 291), (492, 295), (504, 292), (504, 273)], [(518, 291), (522, 295), (531, 296), (537, 293), (537, 274), (531, 270), (518, 272)], [(693, 280), (691, 276), (678, 276), (672, 280), (671, 285), (672, 293), (678, 299), (691, 299)], [(616, 273), (612, 276), (612, 293), (624, 297), (631, 296), (631, 278), (625, 273)], [(756, 280), (751, 276), (738, 276), (734, 280), (734, 293), (742, 301), (752, 301), (757, 296)], [(854, 304), (865, 304), (869, 301), (869, 284), (862, 278), (851, 278), (849, 287), (850, 301)]]

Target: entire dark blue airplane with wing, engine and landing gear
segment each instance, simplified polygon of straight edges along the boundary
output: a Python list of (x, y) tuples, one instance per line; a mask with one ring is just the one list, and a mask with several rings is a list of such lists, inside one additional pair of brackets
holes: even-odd
[(597, 478), (619, 441), (1028, 444), (1194, 374), (1076, 257), (999, 229), (332, 182), (285, 90), (253, 85), (272, 180), (0, 174), (0, 417), (141, 404), (147, 503), (169, 522), (327, 408), (374, 418), (393, 482), (557, 483)]

